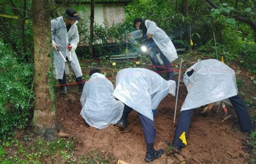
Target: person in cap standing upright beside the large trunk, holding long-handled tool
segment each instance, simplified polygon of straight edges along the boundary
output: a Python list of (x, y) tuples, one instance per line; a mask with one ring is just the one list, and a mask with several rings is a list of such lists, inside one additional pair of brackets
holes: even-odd
[[(69, 63), (71, 63), (79, 89), (82, 90), (84, 85), (82, 80), (82, 71), (75, 52), (79, 42), (79, 35), (76, 25), (77, 20), (80, 20), (80, 17), (72, 8), (67, 8), (63, 16), (51, 20), (51, 39), (55, 68), (54, 74), (61, 85), (61, 93), (63, 95), (67, 94), (65, 61), (63, 57)], [(71, 59), (69, 57), (69, 50), (71, 50)], [(62, 53), (63, 57), (60, 55), (60, 52)]]

